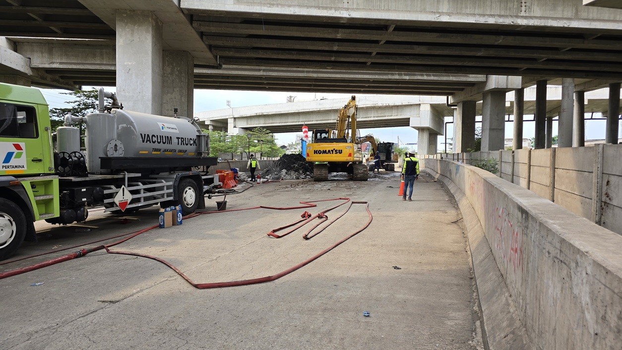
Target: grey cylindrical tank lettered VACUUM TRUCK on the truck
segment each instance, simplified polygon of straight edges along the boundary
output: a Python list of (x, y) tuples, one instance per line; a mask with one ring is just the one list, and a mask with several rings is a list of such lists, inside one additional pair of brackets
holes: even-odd
[(200, 129), (185, 117), (171, 118), (127, 110), (86, 116), (89, 173), (106, 173), (100, 157), (198, 156)]

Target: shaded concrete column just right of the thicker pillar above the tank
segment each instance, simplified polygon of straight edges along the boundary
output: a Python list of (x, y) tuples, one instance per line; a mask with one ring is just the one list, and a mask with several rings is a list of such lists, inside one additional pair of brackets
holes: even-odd
[(194, 111), (194, 57), (187, 51), (162, 52), (162, 115), (192, 118)]

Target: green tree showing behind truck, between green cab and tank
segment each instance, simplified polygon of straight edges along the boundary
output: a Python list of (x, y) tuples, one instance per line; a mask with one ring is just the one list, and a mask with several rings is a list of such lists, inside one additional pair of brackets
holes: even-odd
[[(70, 95), (75, 100), (69, 101), (70, 108), (52, 108), (50, 110), (50, 124), (52, 125), (52, 132), (56, 132), (58, 127), (63, 126), (65, 122), (65, 115), (70, 114), (74, 116), (84, 117), (88, 113), (97, 111), (98, 107), (98, 90), (92, 88), (91, 90), (75, 90), (73, 92), (62, 92), (63, 95)], [(109, 100), (110, 102), (112, 100)], [(84, 135), (86, 132), (85, 123), (72, 123), (73, 126), (80, 128), (80, 146), (84, 147)]]

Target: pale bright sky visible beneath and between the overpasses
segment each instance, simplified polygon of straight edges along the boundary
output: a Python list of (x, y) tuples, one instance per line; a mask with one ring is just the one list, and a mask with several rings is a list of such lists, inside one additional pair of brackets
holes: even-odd
[[(90, 87), (85, 87), (90, 88)], [(106, 91), (114, 91), (114, 87), (105, 88)], [(66, 107), (67, 101), (71, 100), (71, 97), (63, 95), (65, 90), (52, 90), (52, 89), (40, 89), (44, 94), (45, 99), (50, 105), (50, 108)], [(360, 94), (359, 94), (360, 95)], [(294, 101), (311, 101), (319, 100), (320, 98), (343, 98), (344, 104), (350, 99), (349, 94), (346, 93), (303, 93), (303, 92), (257, 92), (257, 91), (238, 91), (238, 90), (195, 90), (194, 95), (194, 110), (195, 112), (208, 111), (208, 110), (220, 110), (228, 108), (227, 100), (231, 101), (232, 107), (241, 106), (254, 106), (254, 105), (267, 105), (272, 103), (285, 103), (287, 97), (294, 96)], [(595, 117), (600, 115), (595, 114)], [(525, 120), (533, 119), (531, 115), (525, 115)], [(477, 118), (481, 121), (481, 117)], [(452, 118), (445, 118), (445, 121), (452, 121)], [(585, 138), (586, 140), (597, 140), (605, 138), (605, 121), (604, 120), (592, 120), (587, 121), (585, 125)], [(302, 126), (302, 125), (301, 125)], [(478, 126), (481, 126), (478, 123)], [(330, 127), (330, 126), (329, 126)], [(622, 128), (621, 128), (622, 131)], [(302, 133), (278, 133), (276, 134), (277, 144), (288, 144), (295, 141), (295, 135)], [(374, 128), (374, 129), (361, 129), (361, 135), (374, 135), (376, 138), (383, 142), (394, 142), (402, 145), (404, 143), (416, 143), (417, 142), (417, 130), (410, 128), (409, 126), (394, 127), (394, 128)], [(513, 123), (506, 123), (505, 137), (512, 138), (513, 136)], [(553, 122), (553, 135), (557, 135), (557, 120)], [(447, 138), (448, 143), (451, 143), (453, 137), (453, 124), (447, 125)], [(534, 122), (526, 121), (523, 126), (523, 137), (534, 137)], [(399, 138), (399, 140), (398, 140)], [(442, 151), (444, 149), (445, 136), (439, 136), (438, 149)]]

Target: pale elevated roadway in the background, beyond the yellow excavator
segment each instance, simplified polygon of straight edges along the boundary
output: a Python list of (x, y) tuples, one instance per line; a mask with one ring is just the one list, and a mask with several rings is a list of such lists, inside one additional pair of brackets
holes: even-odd
[[(547, 116), (558, 116), (561, 108), (562, 87), (547, 88)], [(206, 129), (243, 133), (253, 128), (266, 128), (273, 133), (300, 131), (305, 123), (309, 129), (333, 127), (337, 111), (345, 105), (344, 98), (313, 100), (272, 105), (226, 108), (195, 113)], [(445, 97), (434, 96), (383, 96), (363, 95), (357, 97), (359, 128), (390, 128), (412, 126), (430, 128), (443, 135), (443, 118), (454, 115), (455, 108), (447, 105)], [(422, 120), (421, 106), (431, 110), (432, 120)], [(476, 115), (481, 115), (483, 104), (476, 103)], [(608, 90), (600, 89), (585, 93), (585, 113), (602, 113), (608, 108)], [(514, 93), (506, 95), (505, 114), (514, 113)], [(533, 115), (536, 110), (536, 88), (527, 88), (524, 94), (524, 114)], [(424, 112), (424, 118), (425, 118)], [(427, 125), (429, 123), (429, 125)]]

